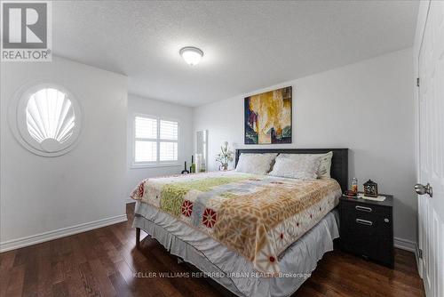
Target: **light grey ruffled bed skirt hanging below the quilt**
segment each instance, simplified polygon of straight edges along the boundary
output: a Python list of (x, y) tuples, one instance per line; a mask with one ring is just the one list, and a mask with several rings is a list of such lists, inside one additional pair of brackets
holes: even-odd
[(297, 242), (281, 253), (279, 277), (261, 277), (252, 263), (239, 253), (158, 208), (137, 202), (133, 227), (145, 230), (171, 254), (193, 264), (238, 296), (289, 296), (311, 276), (317, 261), (333, 250), (339, 237), (338, 214), (325, 215)]

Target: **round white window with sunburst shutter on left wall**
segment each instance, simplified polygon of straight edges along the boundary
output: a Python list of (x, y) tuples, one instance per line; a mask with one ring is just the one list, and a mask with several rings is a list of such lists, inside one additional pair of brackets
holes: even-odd
[(66, 154), (78, 140), (81, 108), (74, 96), (54, 84), (38, 84), (22, 92), (16, 109), (20, 143), (45, 157)]

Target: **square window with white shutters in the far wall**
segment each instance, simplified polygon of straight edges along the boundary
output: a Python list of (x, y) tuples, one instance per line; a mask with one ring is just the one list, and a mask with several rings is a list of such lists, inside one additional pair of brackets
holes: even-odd
[(134, 165), (167, 165), (178, 161), (178, 122), (154, 116), (134, 118)]

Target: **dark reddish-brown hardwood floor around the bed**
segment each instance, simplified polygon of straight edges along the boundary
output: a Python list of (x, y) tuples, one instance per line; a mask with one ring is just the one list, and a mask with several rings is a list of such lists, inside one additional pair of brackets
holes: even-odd
[[(0, 254), (0, 296), (223, 296), (204, 278), (149, 278), (190, 271), (147, 238), (135, 247), (129, 221)], [(134, 277), (133, 272), (146, 277)], [(424, 296), (413, 253), (395, 252), (395, 269), (334, 251), (294, 296)]]

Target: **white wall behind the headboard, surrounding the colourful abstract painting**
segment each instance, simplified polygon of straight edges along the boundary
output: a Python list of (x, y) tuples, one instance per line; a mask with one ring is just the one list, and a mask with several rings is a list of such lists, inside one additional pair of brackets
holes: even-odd
[[(210, 169), (225, 140), (243, 144), (243, 98), (293, 87), (293, 143), (278, 148), (350, 148), (349, 177), (377, 181), (393, 194), (394, 236), (416, 239), (412, 50), (383, 56), (273, 85), (194, 108), (194, 131), (209, 130)], [(398, 241), (398, 244), (402, 242)], [(409, 246), (411, 247), (411, 246)]]

